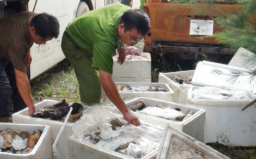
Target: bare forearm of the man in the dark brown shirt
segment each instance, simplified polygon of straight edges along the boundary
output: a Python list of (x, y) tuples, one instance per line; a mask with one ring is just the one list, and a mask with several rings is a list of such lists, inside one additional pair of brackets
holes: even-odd
[(34, 101), (31, 95), (31, 89), (28, 81), (27, 74), (21, 71), (14, 69), (16, 76), (17, 88), (19, 90), (19, 94), (21, 98), (24, 100), (28, 107), (28, 114), (31, 116), (36, 109), (34, 108)]

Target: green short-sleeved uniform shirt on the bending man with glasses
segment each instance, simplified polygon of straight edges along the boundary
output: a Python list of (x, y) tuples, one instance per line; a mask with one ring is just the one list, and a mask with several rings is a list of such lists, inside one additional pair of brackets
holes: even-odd
[[(69, 23), (66, 32), (82, 50), (92, 57), (92, 67), (110, 74), (118, 47), (118, 19), (131, 7), (117, 4), (87, 12)], [(84, 55), (77, 55), (84, 56)]]

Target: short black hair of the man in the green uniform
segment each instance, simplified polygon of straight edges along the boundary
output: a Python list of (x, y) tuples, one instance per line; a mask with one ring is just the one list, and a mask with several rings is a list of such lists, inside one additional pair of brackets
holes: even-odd
[(138, 33), (145, 36), (150, 30), (149, 18), (143, 10), (131, 9), (124, 12), (119, 19), (119, 24), (123, 23), (125, 30), (137, 29)]

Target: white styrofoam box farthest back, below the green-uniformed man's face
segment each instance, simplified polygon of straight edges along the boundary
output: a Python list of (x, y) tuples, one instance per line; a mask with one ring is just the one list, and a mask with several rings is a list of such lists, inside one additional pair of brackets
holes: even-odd
[(141, 52), (143, 60), (125, 60), (123, 64), (113, 59), (112, 78), (114, 82), (151, 82), (150, 53)]

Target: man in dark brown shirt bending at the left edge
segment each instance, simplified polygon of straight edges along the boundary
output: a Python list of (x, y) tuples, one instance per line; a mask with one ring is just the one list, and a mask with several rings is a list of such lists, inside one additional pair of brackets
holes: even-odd
[(36, 112), (27, 67), (33, 43), (45, 44), (59, 36), (60, 24), (46, 13), (24, 11), (0, 19), (0, 122), (7, 122), (12, 97), (14, 112), (26, 107)]

